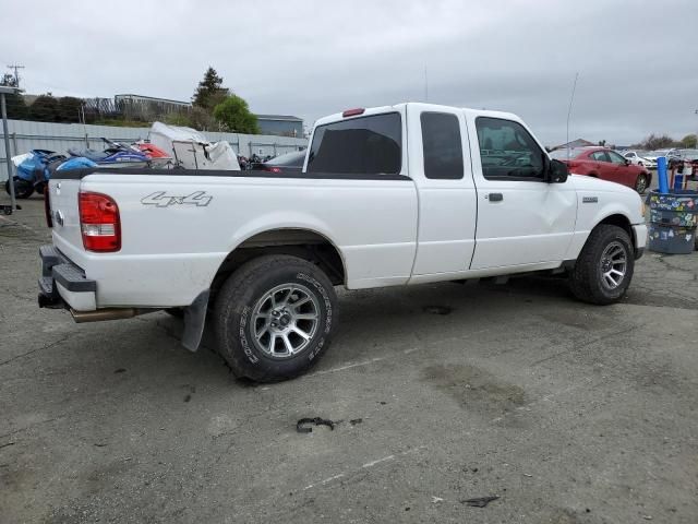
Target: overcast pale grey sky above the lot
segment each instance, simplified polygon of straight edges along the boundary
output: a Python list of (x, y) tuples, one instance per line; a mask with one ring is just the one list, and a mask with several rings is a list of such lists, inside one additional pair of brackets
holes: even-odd
[[(543, 142), (698, 130), (698, 0), (5, 1), (28, 93), (189, 99), (208, 64), (253, 111), (424, 99), (519, 114)], [(11, 21), (7, 24), (7, 21)]]

